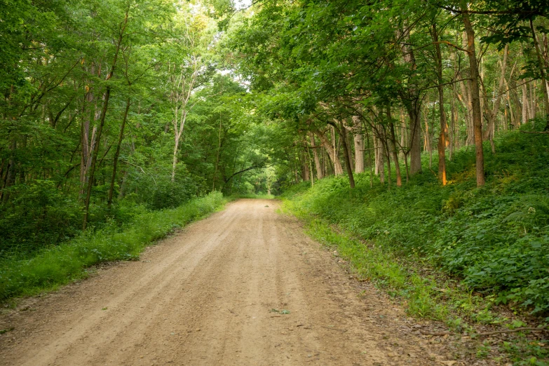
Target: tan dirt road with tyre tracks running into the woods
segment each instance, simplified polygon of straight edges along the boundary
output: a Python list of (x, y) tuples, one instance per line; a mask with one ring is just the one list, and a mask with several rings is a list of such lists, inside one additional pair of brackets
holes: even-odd
[(277, 205), (231, 203), (29, 299), (0, 318), (0, 365), (454, 365)]

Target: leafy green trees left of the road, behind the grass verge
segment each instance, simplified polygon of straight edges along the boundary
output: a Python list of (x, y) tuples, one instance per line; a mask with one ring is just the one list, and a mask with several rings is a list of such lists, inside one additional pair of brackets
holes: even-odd
[(244, 86), (222, 72), (211, 10), (0, 4), (0, 257), (214, 190), (267, 191), (256, 171), (265, 131), (243, 116)]

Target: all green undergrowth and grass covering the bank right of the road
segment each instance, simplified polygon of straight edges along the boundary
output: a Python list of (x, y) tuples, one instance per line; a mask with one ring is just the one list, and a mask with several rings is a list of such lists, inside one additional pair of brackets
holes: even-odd
[[(471, 334), (475, 324), (547, 322), (549, 138), (514, 132), (496, 141), (495, 155), (486, 148), (480, 189), (474, 151), (463, 149), (447, 164), (446, 187), (424, 161), (402, 187), (394, 176), (391, 189), (377, 177), (370, 187), (369, 173), (355, 176), (355, 189), (346, 177), (298, 184), (283, 194), (284, 208), (413, 316)], [(517, 360), (547, 358), (538, 348), (520, 346)]]

